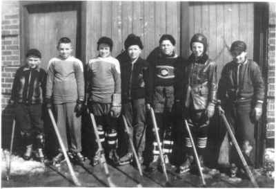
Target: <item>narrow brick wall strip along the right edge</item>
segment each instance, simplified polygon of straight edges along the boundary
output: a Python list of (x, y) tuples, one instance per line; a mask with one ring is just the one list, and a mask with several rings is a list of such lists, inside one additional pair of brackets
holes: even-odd
[(275, 134), (275, 34), (276, 12), (275, 3), (269, 3), (268, 28), (268, 91), (267, 91), (267, 125), (266, 138), (274, 138)]

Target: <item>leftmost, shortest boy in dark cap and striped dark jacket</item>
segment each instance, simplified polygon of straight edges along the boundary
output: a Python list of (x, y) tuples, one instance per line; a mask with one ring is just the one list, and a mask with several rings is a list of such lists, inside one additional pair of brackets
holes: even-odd
[(10, 104), (14, 108), (15, 120), (21, 129), (23, 145), (26, 147), (23, 159), (29, 160), (32, 157), (35, 145), (37, 158), (43, 162), (44, 134), (41, 111), (45, 96), (46, 71), (39, 67), (41, 53), (37, 49), (32, 48), (26, 53), (26, 63), (15, 73)]

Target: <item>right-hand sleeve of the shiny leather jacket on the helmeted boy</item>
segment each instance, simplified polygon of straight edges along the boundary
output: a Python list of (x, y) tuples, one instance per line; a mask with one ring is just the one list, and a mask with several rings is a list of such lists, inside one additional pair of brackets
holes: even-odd
[(209, 70), (209, 95), (208, 102), (215, 104), (217, 101), (217, 64), (215, 62), (210, 62), (210, 70)]

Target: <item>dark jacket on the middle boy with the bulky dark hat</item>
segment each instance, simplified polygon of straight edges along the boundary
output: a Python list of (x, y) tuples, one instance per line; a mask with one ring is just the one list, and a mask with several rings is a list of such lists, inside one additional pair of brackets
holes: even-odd
[[(126, 53), (118, 56), (121, 68), (121, 100), (123, 103), (129, 100), (145, 98), (145, 80), (148, 78), (148, 62), (139, 57), (134, 64)], [(133, 65), (133, 66), (132, 66)]]

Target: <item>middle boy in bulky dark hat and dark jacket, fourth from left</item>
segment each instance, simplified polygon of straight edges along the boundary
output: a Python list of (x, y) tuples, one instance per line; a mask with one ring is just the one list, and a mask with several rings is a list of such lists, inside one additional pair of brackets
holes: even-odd
[[(140, 57), (143, 49), (140, 37), (130, 34), (124, 44), (126, 54), (120, 58), (122, 114), (126, 116), (139, 161), (142, 163), (145, 148), (145, 80), (148, 77), (148, 62)], [(128, 153), (121, 157), (120, 164), (130, 161), (132, 150), (128, 145)]]

